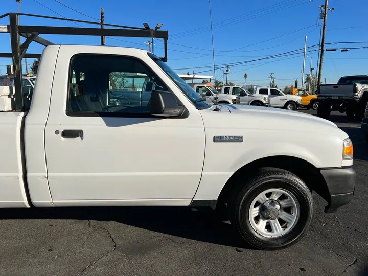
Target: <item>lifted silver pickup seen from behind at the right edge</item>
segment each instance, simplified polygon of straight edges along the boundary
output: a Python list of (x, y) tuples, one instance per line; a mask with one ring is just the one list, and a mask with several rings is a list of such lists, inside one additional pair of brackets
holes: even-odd
[(327, 119), (331, 111), (346, 113), (347, 116), (363, 118), (368, 103), (368, 76), (341, 77), (336, 84), (318, 86), (318, 116)]

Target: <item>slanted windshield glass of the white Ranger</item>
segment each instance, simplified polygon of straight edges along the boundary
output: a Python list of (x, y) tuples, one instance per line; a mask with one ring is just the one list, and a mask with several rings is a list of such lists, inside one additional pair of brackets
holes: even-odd
[(176, 85), (180, 88), (180, 90), (187, 95), (187, 97), (195, 104), (198, 109), (204, 109), (210, 107), (210, 104), (205, 101), (199, 101), (202, 98), (196, 91), (193, 90), (192, 87), (189, 86), (188, 83), (185, 82), (182, 78), (180, 78), (164, 61), (160, 60), (157, 56), (148, 53), (148, 56), (152, 58), (156, 64), (165, 71), (165, 73), (176, 83)]

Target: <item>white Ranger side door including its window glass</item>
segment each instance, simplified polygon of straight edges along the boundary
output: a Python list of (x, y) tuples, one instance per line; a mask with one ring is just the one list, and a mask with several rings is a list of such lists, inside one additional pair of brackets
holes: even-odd
[(189, 205), (204, 160), (199, 112), (158, 118), (149, 114), (149, 100), (143, 106), (129, 99), (106, 104), (112, 89), (131, 90), (124, 77), (129, 74), (144, 77), (136, 87), (151, 81), (156, 90), (179, 88), (169, 89), (159, 77), (170, 81), (163, 72), (119, 55), (119, 49), (98, 50), (105, 54), (62, 49), (44, 136), (54, 205)]

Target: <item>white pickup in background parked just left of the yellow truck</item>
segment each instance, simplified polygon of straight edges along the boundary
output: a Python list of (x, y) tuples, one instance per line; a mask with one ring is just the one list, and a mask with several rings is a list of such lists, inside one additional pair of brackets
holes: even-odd
[(301, 97), (286, 95), (276, 88), (256, 87), (253, 94), (270, 97), (272, 107), (285, 108), (288, 110), (295, 110), (298, 107), (302, 107)]

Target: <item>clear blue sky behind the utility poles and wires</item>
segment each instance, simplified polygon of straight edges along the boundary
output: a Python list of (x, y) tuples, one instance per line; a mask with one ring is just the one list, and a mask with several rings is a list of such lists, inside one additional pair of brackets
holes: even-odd
[[(169, 31), (168, 64), (177, 73), (195, 72), (214, 75), (208, 1), (94, 1), (94, 0), (58, 0), (59, 2), (93, 18), (100, 17), (100, 8), (104, 8), (105, 22), (127, 26), (142, 27), (148, 22), (154, 27), (163, 23), (162, 30)], [(37, 3), (39, 2), (39, 3)], [(319, 41), (318, 24), (319, 5), (324, 0), (212, 0), (212, 21), (215, 48), (215, 63), (223, 68), (226, 64), (246, 62), (267, 56), (277, 55), (304, 47), (304, 36), (308, 37), (307, 46)], [(92, 20), (63, 5), (56, 0), (22, 0), (21, 12), (62, 16), (81, 20)], [(329, 7), (335, 10), (328, 14), (326, 42), (366, 41), (368, 21), (359, 11), (368, 10), (366, 0), (329, 0)], [(3, 0), (0, 13), (17, 12), (15, 0)], [(365, 14), (365, 13), (363, 13)], [(8, 24), (1, 19), (0, 25)], [(61, 25), (60, 25), (61, 24)], [(57, 22), (49, 19), (21, 17), (21, 25), (53, 25), (79, 27), (72, 22)], [(86, 24), (81, 24), (87, 26)], [(0, 52), (10, 52), (8, 34), (1, 34)], [(54, 43), (60, 44), (96, 44), (99, 37), (52, 36), (43, 35)], [(148, 50), (143, 38), (106, 38), (106, 45), (137, 47)], [(121, 41), (123, 40), (123, 41)], [(130, 42), (130, 43), (129, 43)], [(137, 44), (134, 44), (137, 43)], [(28, 52), (40, 53), (42, 47), (32, 43)], [(163, 42), (156, 39), (155, 54), (163, 54)], [(368, 43), (327, 45), (326, 48), (368, 47)], [(315, 50), (316, 48), (310, 48)], [(298, 52), (297, 52), (298, 53)], [(307, 54), (312, 58), (312, 67), (316, 67), (317, 51)], [(3, 74), (10, 59), (0, 58)], [(32, 60), (28, 60), (30, 64)], [(343, 75), (367, 74), (365, 62), (368, 62), (368, 49), (352, 49), (349, 52), (325, 52), (324, 81), (333, 83)], [(198, 68), (202, 67), (202, 68)], [(233, 65), (228, 79), (244, 84), (244, 73), (248, 74), (247, 84), (267, 85), (269, 74), (273, 72), (279, 88), (294, 84), (298, 79), (301, 85), (303, 53), (281, 56), (274, 59), (259, 60)], [(306, 58), (306, 73), (309, 72), (310, 59)], [(206, 71), (206, 72), (203, 72)], [(216, 70), (216, 78), (222, 80), (222, 71)]]

